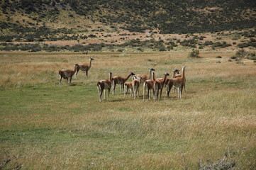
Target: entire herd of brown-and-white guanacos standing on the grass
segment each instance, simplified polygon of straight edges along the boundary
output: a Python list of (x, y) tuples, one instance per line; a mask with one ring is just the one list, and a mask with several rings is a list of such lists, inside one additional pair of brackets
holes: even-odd
[[(84, 54), (84, 53), (83, 53)], [(60, 69), (59, 71), (59, 84), (62, 85), (62, 78), (67, 79), (67, 84), (71, 85), (72, 77), (77, 74), (81, 69), (83, 72), (86, 73), (88, 77), (89, 69), (91, 68), (91, 62), (94, 58), (89, 57), (89, 64), (74, 64), (74, 70), (71, 69)], [(145, 91), (148, 90), (147, 98), (150, 100), (151, 91), (153, 93), (154, 101), (157, 99), (159, 100), (162, 98), (162, 89), (166, 86), (166, 96), (169, 98), (169, 91), (174, 87), (174, 91), (176, 89), (178, 92), (178, 98), (182, 98), (182, 91), (183, 88), (185, 89), (186, 78), (185, 78), (185, 66), (182, 66), (182, 74), (179, 74), (179, 69), (174, 69), (172, 71), (172, 78), (168, 79), (168, 73), (164, 74), (163, 78), (155, 79), (155, 69), (148, 68), (149, 75), (146, 74), (134, 74), (130, 72), (128, 77), (112, 77), (112, 72), (109, 72), (109, 79), (103, 79), (97, 82), (97, 88), (99, 91), (99, 101), (101, 102), (101, 96), (104, 91), (104, 99), (106, 98), (106, 90), (108, 91), (108, 100), (109, 100), (109, 93), (112, 87), (112, 94), (115, 95), (116, 84), (120, 84), (120, 94), (123, 89), (123, 94), (126, 96), (128, 94), (128, 90), (130, 89), (130, 96), (133, 98), (139, 97), (139, 87), (140, 84), (143, 84), (143, 101), (145, 100)], [(132, 81), (126, 83), (126, 81), (132, 77)]]

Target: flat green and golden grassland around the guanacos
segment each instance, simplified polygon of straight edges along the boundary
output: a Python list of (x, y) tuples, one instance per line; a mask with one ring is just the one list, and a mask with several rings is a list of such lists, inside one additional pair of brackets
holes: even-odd
[[(188, 51), (0, 52), (1, 169), (199, 169), (225, 153), (235, 167), (254, 169), (256, 66), (228, 62), (234, 54), (201, 51), (195, 60)], [(79, 72), (72, 86), (58, 85), (59, 69), (89, 57), (88, 79)], [(126, 77), (153, 67), (162, 77), (182, 65), (187, 92), (180, 99), (172, 92), (143, 101), (140, 88), (133, 100), (117, 89), (99, 103), (96, 81), (108, 71)]]

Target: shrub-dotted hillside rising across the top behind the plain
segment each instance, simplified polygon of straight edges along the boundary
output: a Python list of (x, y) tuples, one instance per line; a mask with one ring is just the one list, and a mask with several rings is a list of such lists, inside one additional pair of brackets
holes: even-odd
[[(14, 34), (70, 33), (67, 28), (72, 26), (79, 32), (94, 24), (130, 32), (157, 29), (163, 34), (256, 26), (255, 0), (3, 0), (0, 11), (0, 31)], [(68, 19), (72, 20), (65, 23)]]

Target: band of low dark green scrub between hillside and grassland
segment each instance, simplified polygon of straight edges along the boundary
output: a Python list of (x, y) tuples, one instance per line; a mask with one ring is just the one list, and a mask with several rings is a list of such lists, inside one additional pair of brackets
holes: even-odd
[[(243, 33), (246, 33), (248, 31), (244, 31)], [(82, 51), (102, 51), (107, 50), (113, 52), (115, 49), (118, 49), (116, 51), (123, 52), (123, 48), (131, 48), (134, 50), (137, 50), (139, 52), (143, 52), (144, 49), (154, 50), (154, 51), (168, 51), (173, 50), (174, 47), (191, 47), (199, 49), (204, 49), (204, 47), (210, 46), (212, 50), (216, 50), (216, 48), (225, 48), (230, 46), (235, 46), (238, 48), (243, 47), (256, 47), (256, 40), (254, 38), (250, 38), (250, 36), (255, 36), (256, 32), (250, 30), (250, 35), (244, 35), (244, 38), (248, 38), (247, 42), (239, 43), (238, 45), (231, 45), (227, 43), (226, 41), (205, 41), (202, 42), (201, 40), (204, 40), (204, 38), (201, 36), (200, 38), (198, 35), (186, 35), (186, 37), (190, 37), (190, 39), (184, 39), (184, 40), (177, 40), (177, 38), (167, 40), (155, 40), (154, 38), (151, 38), (150, 40), (140, 40), (140, 38), (133, 39), (133, 40), (127, 40), (126, 42), (123, 42), (122, 44), (115, 44), (115, 43), (89, 43), (89, 44), (82, 44), (78, 43), (76, 45), (48, 45), (47, 43), (43, 42), (32, 42), (32, 43), (12, 43), (12, 42), (1, 42), (0, 43), (0, 50), (2, 51), (29, 51), (29, 52), (38, 52), (38, 51), (47, 51), (47, 52), (54, 52), (54, 51), (72, 51), (72, 52), (82, 52)], [(218, 34), (219, 36), (232, 36), (233, 33), (230, 34)], [(5, 40), (5, 38), (9, 38), (9, 35), (3, 35), (0, 36)], [(80, 38), (80, 37), (79, 37)], [(61, 38), (60, 38), (61, 40)], [(12, 41), (12, 40), (10, 40)]]

